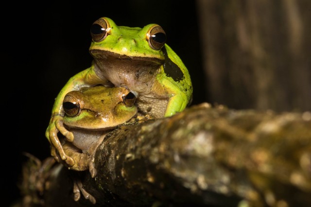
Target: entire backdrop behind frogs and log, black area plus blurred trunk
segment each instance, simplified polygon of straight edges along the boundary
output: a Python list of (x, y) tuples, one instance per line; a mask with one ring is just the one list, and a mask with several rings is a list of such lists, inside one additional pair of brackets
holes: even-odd
[(10, 1), (1, 9), (1, 196), (7, 203), (19, 197), (22, 152), (50, 156), (45, 130), (54, 98), (90, 66), (90, 26), (103, 16), (119, 26), (161, 25), (188, 67), (193, 105), (311, 111), (310, 0)]

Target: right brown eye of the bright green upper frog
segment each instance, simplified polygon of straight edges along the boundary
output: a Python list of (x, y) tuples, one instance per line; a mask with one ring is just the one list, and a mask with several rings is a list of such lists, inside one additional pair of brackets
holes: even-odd
[(163, 47), (166, 41), (166, 34), (162, 27), (155, 25), (147, 34), (147, 39), (150, 48), (159, 50)]

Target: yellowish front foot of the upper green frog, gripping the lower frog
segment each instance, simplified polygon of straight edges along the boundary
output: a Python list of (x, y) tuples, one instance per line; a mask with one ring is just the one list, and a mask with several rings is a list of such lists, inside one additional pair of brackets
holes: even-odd
[(55, 152), (56, 150), (60, 155), (60, 159), (65, 160), (69, 166), (72, 166), (74, 165), (74, 160), (66, 155), (66, 153), (64, 152), (62, 144), (57, 137), (57, 133), (58, 131), (60, 131), (69, 142), (73, 141), (73, 134), (63, 126), (63, 118), (60, 115), (53, 116), (53, 119), (53, 124), (51, 124), (46, 131), (46, 135), (47, 137), (49, 137), (49, 141), (52, 144), (51, 155), (59, 162), (60, 160), (57, 156), (57, 153)]

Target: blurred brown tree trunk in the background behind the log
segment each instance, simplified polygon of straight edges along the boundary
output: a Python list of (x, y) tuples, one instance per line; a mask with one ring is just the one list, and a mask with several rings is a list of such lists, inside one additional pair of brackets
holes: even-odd
[(197, 0), (211, 103), (311, 110), (310, 0)]

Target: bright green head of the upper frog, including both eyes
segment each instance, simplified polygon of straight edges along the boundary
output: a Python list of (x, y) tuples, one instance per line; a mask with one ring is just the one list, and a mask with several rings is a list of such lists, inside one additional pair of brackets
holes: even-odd
[[(134, 59), (163, 64), (162, 48), (166, 42), (164, 30), (157, 24), (143, 28), (117, 26), (110, 18), (102, 17), (91, 26), (89, 48), (96, 59)], [(149, 63), (149, 64), (150, 64)]]

